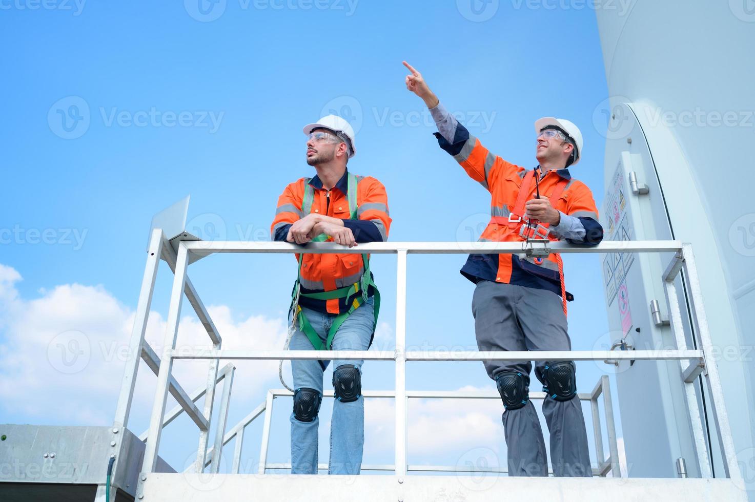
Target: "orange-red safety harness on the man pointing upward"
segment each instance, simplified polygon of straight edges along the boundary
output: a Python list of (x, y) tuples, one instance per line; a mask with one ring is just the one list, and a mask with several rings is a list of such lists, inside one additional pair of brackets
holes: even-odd
[[(491, 218), (491, 223), (498, 223), (499, 225), (506, 225), (510, 229), (517, 232), (523, 239), (547, 239), (550, 226), (548, 223), (544, 223), (538, 220), (529, 220), (525, 217), (525, 204), (530, 192), (532, 192), (532, 183), (535, 182), (535, 169), (527, 171), (524, 179), (522, 180), (522, 186), (519, 188), (519, 195), (516, 196), (516, 202), (508, 217), (494, 216)], [(569, 184), (569, 180), (561, 178), (556, 186), (553, 187), (553, 192), (550, 194), (548, 200), (550, 205), (555, 207), (556, 201), (561, 197), (562, 193), (566, 189), (566, 185)], [(556, 255), (556, 264), (559, 267), (559, 279), (561, 281), (561, 300), (563, 302), (564, 316), (566, 315), (566, 285), (564, 283), (564, 266), (561, 260), (561, 255)], [(535, 260), (541, 260), (542, 258), (535, 258)]]

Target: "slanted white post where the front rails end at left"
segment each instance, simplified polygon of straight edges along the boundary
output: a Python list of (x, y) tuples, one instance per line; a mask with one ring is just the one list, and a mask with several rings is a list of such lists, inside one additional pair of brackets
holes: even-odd
[(165, 414), (165, 402), (168, 399), (168, 380), (173, 368), (172, 350), (176, 346), (178, 337), (178, 322), (180, 320), (181, 302), (183, 300), (183, 287), (186, 284), (186, 267), (189, 265), (186, 245), (180, 242), (178, 245), (178, 257), (176, 260), (173, 289), (171, 290), (171, 306), (168, 308), (168, 322), (165, 327), (163, 340), (162, 362), (157, 376), (155, 399), (153, 400), (152, 416), (149, 417), (149, 433), (146, 438), (144, 460), (142, 463), (143, 473), (153, 473), (157, 467), (157, 454), (162, 433), (162, 416)]

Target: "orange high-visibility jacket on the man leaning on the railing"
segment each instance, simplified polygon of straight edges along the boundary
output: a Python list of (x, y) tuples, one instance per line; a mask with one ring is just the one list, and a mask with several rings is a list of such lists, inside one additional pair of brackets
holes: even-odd
[[(322, 181), (317, 176), (309, 181), (314, 189), (311, 212), (344, 220), (344, 226), (352, 229), (356, 242), (387, 240), (391, 219), (385, 187), (374, 177), (357, 176), (356, 217), (358, 220), (351, 220), (347, 200), (347, 175), (348, 173), (344, 173), (341, 180), (330, 191), (323, 188)], [(306, 182), (307, 178), (300, 178), (294, 183), (289, 183), (279, 197), (276, 217), (270, 226), (273, 240), (285, 241), (291, 224), (306, 216), (301, 211)], [(298, 260), (299, 255), (295, 256)], [(301, 292), (333, 291), (353, 285), (362, 277), (363, 265), (361, 254), (305, 253), (301, 266)], [(362, 291), (357, 294), (361, 295)], [(369, 291), (368, 294), (371, 295), (373, 292)], [(332, 300), (300, 297), (299, 304), (320, 312), (338, 314), (349, 310), (353, 300), (354, 295)]]

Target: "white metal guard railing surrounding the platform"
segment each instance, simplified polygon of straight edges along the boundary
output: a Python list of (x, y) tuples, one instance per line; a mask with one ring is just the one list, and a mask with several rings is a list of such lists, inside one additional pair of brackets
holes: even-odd
[[(188, 239), (191, 236), (184, 235)], [(230, 398), (231, 381), (233, 371), (226, 369), (223, 375), (227, 379), (223, 386), (223, 399), (220, 401), (220, 423), (217, 425), (214, 443), (208, 450), (208, 431), (212, 417), (212, 403), (214, 401), (214, 390), (218, 380), (217, 365), (220, 359), (324, 359), (322, 351), (318, 350), (221, 350), (221, 339), (217, 329), (208, 316), (205, 307), (202, 305), (199, 296), (193, 288), (186, 270), (189, 263), (199, 257), (207, 256), (213, 253), (298, 253), (302, 248), (297, 245), (291, 245), (284, 242), (202, 242), (202, 241), (180, 241), (181, 236), (174, 239), (177, 245), (177, 252), (174, 251), (173, 244), (169, 243), (162, 230), (155, 229), (151, 236), (149, 244), (149, 255), (142, 282), (140, 299), (137, 307), (137, 316), (134, 320), (134, 329), (131, 337), (132, 353), (142, 353), (146, 346), (144, 341), (144, 331), (146, 329), (146, 315), (149, 312), (149, 305), (152, 301), (152, 294), (155, 285), (155, 276), (157, 271), (158, 258), (163, 257), (174, 272), (173, 286), (171, 290), (171, 301), (168, 309), (167, 327), (165, 330), (165, 348), (162, 355), (162, 362), (158, 362), (159, 371), (158, 382), (153, 405), (153, 412), (149, 420), (149, 429), (146, 432), (146, 449), (142, 466), (143, 473), (152, 473), (157, 465), (157, 452), (159, 449), (160, 433), (165, 424), (172, 420), (171, 416), (175, 413), (171, 411), (168, 419), (165, 419), (165, 405), (168, 392), (177, 396), (180, 408), (193, 417), (194, 422), (198, 425), (199, 448), (196, 462), (193, 464), (193, 470), (202, 473), (206, 466), (210, 466), (211, 473), (217, 473), (220, 467), (220, 454), (223, 445), (230, 442), (236, 437), (236, 451), (234, 454), (232, 472), (239, 472), (240, 456), (242, 450), (242, 441), (245, 427), (251, 423), (254, 418), (265, 412), (265, 424), (263, 427), (263, 439), (260, 449), (260, 473), (266, 469), (287, 468), (288, 464), (279, 467), (280, 464), (267, 463), (267, 442), (270, 437), (270, 420), (272, 417), (273, 399), (276, 396), (291, 395), (282, 390), (271, 390), (267, 394), (266, 402), (257, 406), (245, 419), (236, 424), (228, 433), (226, 433), (226, 421), (228, 412), (228, 401)], [(704, 440), (704, 425), (701, 419), (700, 411), (697, 405), (697, 396), (695, 394), (695, 378), (700, 374), (704, 375), (707, 383), (707, 389), (713, 408), (713, 419), (715, 421), (716, 433), (718, 434), (719, 444), (723, 457), (723, 464), (727, 477), (739, 478), (740, 473), (736, 464), (735, 450), (732, 442), (731, 431), (729, 429), (729, 420), (726, 414), (726, 408), (723, 402), (723, 391), (721, 389), (720, 379), (715, 364), (706, 364), (706, 355), (713, 353), (713, 346), (710, 340), (710, 332), (707, 326), (702, 306), (702, 294), (698, 281), (695, 260), (692, 254), (692, 248), (688, 244), (682, 244), (678, 241), (625, 241), (625, 242), (602, 242), (599, 245), (590, 248), (575, 247), (563, 242), (535, 242), (530, 243), (527, 252), (529, 254), (547, 254), (550, 251), (559, 253), (667, 253), (673, 252), (674, 257), (669, 263), (663, 275), (664, 288), (669, 305), (670, 326), (676, 339), (675, 350), (633, 350), (631, 352), (612, 352), (609, 350), (593, 351), (543, 351), (538, 352), (538, 359), (543, 360), (574, 360), (574, 361), (613, 361), (621, 360), (678, 360), (680, 362), (680, 377), (685, 383), (686, 391), (686, 408), (689, 412), (689, 421), (692, 425), (692, 435), (696, 450), (696, 459), (702, 477), (711, 477), (710, 459), (708, 457), (707, 446)], [(408, 399), (427, 397), (427, 398), (464, 398), (469, 396), (460, 396), (455, 393), (439, 392), (413, 392), (406, 390), (406, 362), (423, 362), (423, 361), (486, 361), (486, 360), (507, 360), (507, 361), (530, 361), (532, 352), (502, 352), (502, 351), (415, 351), (406, 350), (406, 267), (408, 254), (484, 254), (484, 253), (505, 253), (520, 254), (522, 253), (521, 242), (373, 242), (359, 245), (358, 248), (344, 248), (333, 243), (310, 243), (307, 245), (307, 253), (371, 253), (371, 254), (396, 254), (397, 256), (397, 273), (396, 273), (396, 349), (393, 351), (329, 351), (328, 359), (362, 359), (368, 361), (393, 361), (395, 362), (396, 371), (396, 390), (394, 391), (365, 391), (366, 397), (384, 397), (393, 398), (396, 402), (396, 445), (395, 445), (395, 463), (390, 465), (369, 466), (363, 468), (369, 470), (393, 470), (396, 476), (404, 476), (410, 470), (418, 471), (456, 471), (459, 470), (443, 466), (408, 466), (407, 465), (407, 402)], [(679, 306), (679, 300), (676, 295), (674, 279), (681, 270), (685, 271), (686, 281), (689, 285), (690, 292), (690, 310), (694, 326), (694, 336), (697, 339), (699, 349), (690, 350), (686, 343), (686, 337), (683, 331), (682, 315)], [(202, 324), (208, 331), (212, 342), (212, 348), (196, 350), (176, 350), (178, 322), (180, 318), (181, 304), (183, 296), (190, 301), (193, 309), (199, 316)], [(116, 428), (118, 424), (125, 427), (128, 421), (128, 411), (131, 407), (131, 398), (134, 392), (134, 381), (138, 366), (138, 358), (133, 358), (131, 364), (125, 369), (122, 393), (119, 398), (118, 411), (116, 413)], [(154, 359), (156, 358), (149, 358)], [(208, 359), (211, 362), (208, 374), (208, 384), (205, 389), (205, 408), (199, 411), (194, 405), (193, 396), (188, 396), (171, 376), (171, 368), (175, 359)], [(712, 361), (712, 359), (711, 359)], [(228, 372), (230, 371), (230, 373)], [(230, 376), (230, 378), (229, 378)], [(604, 380), (605, 379), (605, 380)], [(201, 392), (201, 391), (199, 391)], [(609, 434), (609, 459), (603, 459), (602, 451), (602, 434), (599, 427), (597, 398), (603, 394), (606, 402), (606, 422)], [(531, 393), (533, 399), (537, 399), (538, 394)], [(328, 393), (325, 393), (328, 396)], [(497, 399), (497, 394), (485, 394), (482, 396), (473, 396), (483, 399)], [(607, 377), (602, 377), (598, 382), (595, 390), (591, 394), (580, 395), (581, 399), (590, 399), (592, 402), (593, 425), (596, 427), (595, 442), (597, 450), (598, 468), (596, 473), (605, 475), (612, 470), (613, 476), (620, 476), (618, 468), (618, 449), (615, 444), (615, 431), (613, 430), (612, 403), (607, 385)], [(197, 398), (198, 399), (198, 398)], [(179, 411), (180, 413), (180, 411)], [(199, 415), (199, 416), (196, 416)], [(505, 471), (500, 471), (505, 472)]]

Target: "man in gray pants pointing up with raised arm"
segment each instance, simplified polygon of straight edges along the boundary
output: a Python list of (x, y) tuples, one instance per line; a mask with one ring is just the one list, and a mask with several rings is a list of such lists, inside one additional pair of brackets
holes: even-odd
[[(501, 159), (448, 113), (420, 72), (408, 63), (406, 88), (424, 100), (438, 127), (439, 145), (492, 196), (483, 242), (561, 240), (596, 245), (602, 226), (590, 189), (569, 166), (582, 156), (582, 134), (572, 122), (545, 117), (535, 122), (538, 166), (525, 169)], [(470, 254), (461, 273), (476, 284), (472, 300), (479, 350), (571, 350), (559, 254)], [(529, 400), (529, 361), (485, 361), (504, 402), (502, 420), (509, 476), (547, 476), (547, 455), (535, 407)], [(587, 431), (577, 398), (572, 361), (536, 361), (535, 377), (547, 397), (555, 476), (592, 476)]]

